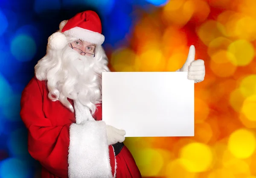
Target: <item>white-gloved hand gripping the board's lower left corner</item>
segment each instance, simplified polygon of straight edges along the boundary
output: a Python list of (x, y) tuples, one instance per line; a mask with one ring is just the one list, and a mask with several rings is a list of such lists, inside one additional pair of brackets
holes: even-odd
[(125, 130), (119, 130), (111, 125), (106, 125), (108, 145), (125, 141)]

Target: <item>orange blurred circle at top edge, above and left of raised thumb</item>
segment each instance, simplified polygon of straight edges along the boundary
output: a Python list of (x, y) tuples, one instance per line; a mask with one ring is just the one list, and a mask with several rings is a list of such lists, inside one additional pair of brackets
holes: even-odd
[(186, 0), (170, 0), (163, 8), (164, 23), (184, 26), (194, 13), (193, 6), (185, 4)]

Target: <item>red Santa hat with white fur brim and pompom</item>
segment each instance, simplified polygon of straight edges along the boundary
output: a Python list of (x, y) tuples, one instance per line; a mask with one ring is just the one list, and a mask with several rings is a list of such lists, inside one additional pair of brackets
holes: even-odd
[(96, 45), (102, 45), (105, 40), (102, 35), (101, 21), (94, 11), (80, 12), (70, 20), (62, 21), (59, 28), (59, 31), (48, 38), (48, 45), (52, 49), (62, 49), (67, 45), (65, 35)]

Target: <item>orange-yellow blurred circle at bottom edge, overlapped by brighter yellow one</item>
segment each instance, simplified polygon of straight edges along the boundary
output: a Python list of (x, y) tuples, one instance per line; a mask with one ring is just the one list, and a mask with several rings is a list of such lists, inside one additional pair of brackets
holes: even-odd
[(182, 159), (175, 159), (166, 166), (167, 178), (197, 178), (196, 173), (189, 172), (183, 167)]

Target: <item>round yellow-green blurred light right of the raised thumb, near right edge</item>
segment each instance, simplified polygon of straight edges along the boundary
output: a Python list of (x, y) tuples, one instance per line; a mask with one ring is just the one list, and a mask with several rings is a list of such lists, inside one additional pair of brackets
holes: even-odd
[(228, 47), (228, 51), (236, 57), (236, 60), (231, 61), (233, 65), (248, 65), (254, 57), (253, 45), (246, 40), (237, 40), (231, 43)]

